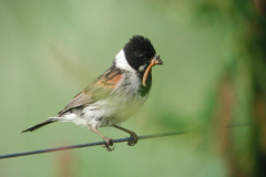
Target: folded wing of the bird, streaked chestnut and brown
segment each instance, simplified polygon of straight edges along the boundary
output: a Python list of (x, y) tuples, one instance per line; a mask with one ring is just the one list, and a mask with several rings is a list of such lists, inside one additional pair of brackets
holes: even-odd
[(71, 108), (79, 107), (85, 104), (94, 103), (99, 100), (105, 98), (110, 95), (112, 90), (121, 80), (121, 71), (109, 69), (94, 82), (92, 82), (86, 88), (80, 92), (61, 112), (61, 115)]

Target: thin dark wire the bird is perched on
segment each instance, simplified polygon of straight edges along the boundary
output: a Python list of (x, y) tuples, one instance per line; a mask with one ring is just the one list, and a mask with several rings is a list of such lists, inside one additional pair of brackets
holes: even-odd
[[(233, 127), (242, 127), (242, 126), (247, 126), (247, 125), (252, 125), (252, 123), (232, 124), (232, 125), (227, 125), (227, 126), (223, 126), (223, 127), (224, 128), (233, 128)], [(191, 131), (177, 131), (177, 132), (170, 132), (170, 133), (142, 135), (142, 136), (139, 136), (139, 139), (182, 135), (182, 134), (186, 134), (190, 132)], [(113, 139), (113, 143), (122, 143), (122, 142), (129, 142), (129, 140), (133, 140), (133, 137)], [(19, 157), (19, 156), (28, 156), (28, 155), (34, 155), (34, 154), (51, 153), (51, 152), (59, 152), (59, 150), (66, 150), (66, 149), (72, 149), (72, 148), (98, 146), (98, 145), (104, 145), (104, 144), (106, 144), (106, 142), (102, 140), (102, 142), (94, 142), (94, 143), (86, 143), (86, 144), (79, 144), (79, 145), (71, 145), (71, 146), (63, 146), (63, 147), (45, 148), (45, 149), (32, 150), (32, 152), (7, 154), (7, 155), (0, 155), (0, 159)]]

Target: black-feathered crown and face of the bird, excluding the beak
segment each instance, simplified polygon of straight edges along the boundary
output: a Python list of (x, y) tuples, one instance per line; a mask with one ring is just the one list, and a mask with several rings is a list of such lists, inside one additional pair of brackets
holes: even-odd
[(147, 38), (133, 35), (130, 42), (125, 44), (124, 53), (129, 64), (133, 69), (144, 72), (156, 52)]

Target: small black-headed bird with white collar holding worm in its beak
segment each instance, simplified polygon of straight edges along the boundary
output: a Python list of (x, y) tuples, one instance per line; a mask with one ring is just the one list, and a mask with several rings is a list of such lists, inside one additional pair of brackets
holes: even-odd
[(55, 122), (72, 122), (96, 133), (105, 142), (102, 146), (112, 152), (113, 139), (99, 132), (99, 127), (114, 127), (131, 137), (134, 146), (137, 135), (120, 124), (134, 115), (147, 100), (152, 87), (152, 67), (163, 65), (161, 56), (147, 38), (133, 35), (115, 55), (112, 65), (70, 103), (44, 122), (21, 133), (33, 132)]

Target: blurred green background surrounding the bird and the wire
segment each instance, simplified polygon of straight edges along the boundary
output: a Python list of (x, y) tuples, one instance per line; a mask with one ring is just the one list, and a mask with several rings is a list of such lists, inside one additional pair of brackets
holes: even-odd
[[(105, 71), (133, 34), (151, 39), (153, 70), (143, 108), (123, 124), (175, 137), (0, 162), (0, 176), (265, 176), (266, 35), (260, 0), (0, 1), (1, 154), (96, 142), (57, 114)], [(253, 126), (224, 128), (253, 122)], [(101, 128), (109, 137), (126, 136)]]

